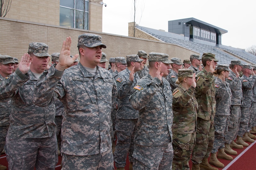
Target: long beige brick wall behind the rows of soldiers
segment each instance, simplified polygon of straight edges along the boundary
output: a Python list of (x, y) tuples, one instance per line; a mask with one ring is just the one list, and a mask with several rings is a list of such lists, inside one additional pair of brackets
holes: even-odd
[[(63, 28), (47, 24), (18, 22), (15, 19), (0, 17), (0, 54), (8, 54), (20, 60), (21, 56), (28, 51), (30, 42), (43, 42), (49, 46), (49, 53), (60, 52), (62, 42), (66, 37), (71, 36), (71, 54), (78, 53), (77, 38), (83, 33), (94, 33), (102, 36), (102, 42), (107, 48), (102, 49), (110, 57), (125, 57), (129, 54), (137, 54), (138, 50), (147, 53), (167, 53), (169, 58), (189, 58), (195, 52), (183, 47), (154, 40), (146, 40), (128, 36), (106, 34), (75, 28)], [(197, 53), (198, 54), (198, 53)]]

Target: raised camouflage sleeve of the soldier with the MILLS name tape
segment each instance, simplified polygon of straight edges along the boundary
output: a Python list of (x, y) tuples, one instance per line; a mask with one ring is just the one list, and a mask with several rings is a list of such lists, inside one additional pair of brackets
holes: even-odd
[(64, 71), (56, 70), (55, 66), (56, 64), (52, 65), (48, 71), (44, 72), (43, 74), (46, 75), (40, 76), (35, 85), (33, 103), (40, 107), (46, 107), (54, 102), (54, 96), (62, 98), (65, 95), (63, 93), (63, 84), (59, 83)]

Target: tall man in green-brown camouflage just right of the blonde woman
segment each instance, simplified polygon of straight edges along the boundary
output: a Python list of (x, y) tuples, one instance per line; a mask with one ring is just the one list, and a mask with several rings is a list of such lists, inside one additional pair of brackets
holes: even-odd
[(215, 54), (203, 53), (204, 69), (197, 74), (195, 98), (198, 102), (196, 144), (192, 151), (192, 169), (216, 169), (208, 163), (208, 157), (213, 149), (215, 87), (213, 72), (218, 60)]

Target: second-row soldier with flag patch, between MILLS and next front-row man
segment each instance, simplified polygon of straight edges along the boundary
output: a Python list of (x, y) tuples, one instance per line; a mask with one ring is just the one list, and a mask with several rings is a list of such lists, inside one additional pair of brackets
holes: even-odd
[(142, 61), (136, 54), (126, 56), (127, 68), (116, 76), (118, 109), (115, 125), (117, 142), (114, 161), (118, 170), (124, 170), (127, 154), (130, 167), (132, 167), (134, 160), (132, 158), (133, 137), (139, 115), (138, 111), (131, 106), (129, 97), (132, 94), (134, 84), (140, 79), (136, 72), (140, 70)]

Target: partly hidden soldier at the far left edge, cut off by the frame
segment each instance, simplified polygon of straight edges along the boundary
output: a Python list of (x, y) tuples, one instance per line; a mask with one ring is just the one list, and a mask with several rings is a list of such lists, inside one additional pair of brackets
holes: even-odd
[[(13, 57), (8, 55), (0, 55), (0, 84), (12, 74), (15, 61)], [(9, 129), (9, 113), (11, 111), (11, 100), (0, 102), (0, 152), (4, 149), (5, 138)], [(0, 170), (6, 169), (0, 165)]]

